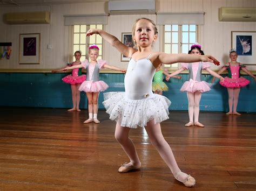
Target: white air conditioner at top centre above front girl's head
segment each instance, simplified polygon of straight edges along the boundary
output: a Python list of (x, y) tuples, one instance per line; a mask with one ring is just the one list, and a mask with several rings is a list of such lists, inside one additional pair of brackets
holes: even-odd
[(109, 0), (109, 13), (111, 15), (154, 14), (156, 0)]

